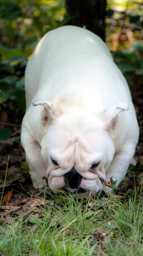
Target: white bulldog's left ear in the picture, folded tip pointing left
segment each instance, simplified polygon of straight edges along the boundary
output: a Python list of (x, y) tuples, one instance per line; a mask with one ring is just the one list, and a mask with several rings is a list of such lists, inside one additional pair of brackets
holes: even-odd
[(39, 99), (37, 101), (33, 101), (32, 105), (40, 105), (44, 107), (44, 110), (41, 112), (41, 124), (43, 124), (44, 126), (48, 123), (48, 121), (54, 121), (60, 113), (58, 106), (50, 101), (44, 101), (42, 99)]

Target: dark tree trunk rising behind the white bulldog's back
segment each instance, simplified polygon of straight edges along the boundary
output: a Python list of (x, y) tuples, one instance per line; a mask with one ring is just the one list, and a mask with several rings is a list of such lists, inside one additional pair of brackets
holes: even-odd
[(66, 0), (67, 25), (85, 26), (105, 41), (106, 0)]

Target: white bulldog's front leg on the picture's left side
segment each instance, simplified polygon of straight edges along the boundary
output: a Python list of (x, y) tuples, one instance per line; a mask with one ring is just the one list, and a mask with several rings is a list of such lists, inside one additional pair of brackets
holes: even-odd
[(43, 177), (46, 177), (47, 170), (41, 156), (41, 147), (26, 128), (22, 128), (21, 142), (26, 153), (32, 184), (35, 189), (41, 189), (45, 185)]

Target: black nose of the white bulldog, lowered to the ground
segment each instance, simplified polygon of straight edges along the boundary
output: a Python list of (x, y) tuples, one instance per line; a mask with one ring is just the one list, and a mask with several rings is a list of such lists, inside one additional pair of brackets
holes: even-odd
[(71, 189), (78, 189), (82, 176), (73, 167), (71, 171), (64, 175), (65, 184)]

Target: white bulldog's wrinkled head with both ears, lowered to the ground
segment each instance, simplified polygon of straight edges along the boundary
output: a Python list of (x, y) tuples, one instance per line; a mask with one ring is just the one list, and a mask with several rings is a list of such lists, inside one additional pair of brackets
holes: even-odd
[(44, 106), (41, 155), (47, 166), (50, 189), (55, 193), (65, 186), (71, 191), (101, 190), (115, 154), (113, 137), (117, 117), (119, 112), (128, 110), (128, 105), (111, 106), (97, 117), (80, 108), (62, 112), (58, 106), (43, 100), (32, 104)]

